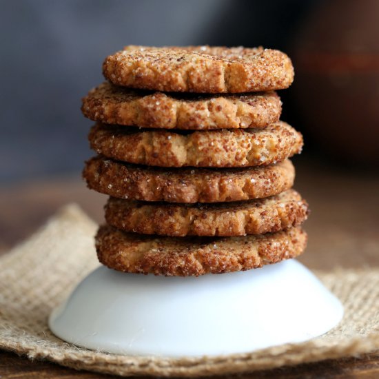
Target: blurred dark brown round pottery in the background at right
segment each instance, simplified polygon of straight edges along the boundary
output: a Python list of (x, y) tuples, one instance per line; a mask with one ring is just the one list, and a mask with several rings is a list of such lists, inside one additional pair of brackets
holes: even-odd
[(379, 163), (379, 1), (322, 2), (293, 55), (296, 111), (319, 151)]

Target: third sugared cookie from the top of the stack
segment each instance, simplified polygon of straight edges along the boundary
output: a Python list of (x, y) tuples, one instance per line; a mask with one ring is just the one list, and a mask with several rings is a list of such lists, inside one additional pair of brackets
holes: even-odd
[(301, 151), (303, 136), (279, 121), (265, 129), (172, 132), (130, 131), (96, 124), (88, 139), (93, 150), (118, 161), (160, 167), (244, 167), (269, 165)]

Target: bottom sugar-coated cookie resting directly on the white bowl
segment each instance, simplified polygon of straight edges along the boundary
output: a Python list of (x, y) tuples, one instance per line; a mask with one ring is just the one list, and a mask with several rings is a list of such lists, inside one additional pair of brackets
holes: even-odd
[(254, 269), (303, 253), (307, 234), (294, 227), (243, 237), (162, 237), (122, 232), (109, 225), (96, 234), (100, 263), (122, 272), (199, 276)]

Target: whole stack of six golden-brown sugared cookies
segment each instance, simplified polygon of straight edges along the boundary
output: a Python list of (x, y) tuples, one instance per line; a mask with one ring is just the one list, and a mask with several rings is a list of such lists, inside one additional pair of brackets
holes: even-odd
[(98, 154), (88, 187), (110, 196), (103, 265), (165, 276), (262, 267), (303, 253), (307, 203), (291, 189), (303, 147), (274, 92), (294, 79), (263, 48), (127, 46), (83, 99)]

